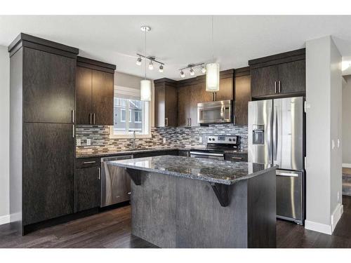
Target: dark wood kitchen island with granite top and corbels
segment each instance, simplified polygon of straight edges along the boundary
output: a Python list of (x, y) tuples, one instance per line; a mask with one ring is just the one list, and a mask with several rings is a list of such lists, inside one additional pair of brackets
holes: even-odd
[(111, 161), (131, 176), (132, 234), (161, 248), (275, 248), (275, 169), (183, 156)]

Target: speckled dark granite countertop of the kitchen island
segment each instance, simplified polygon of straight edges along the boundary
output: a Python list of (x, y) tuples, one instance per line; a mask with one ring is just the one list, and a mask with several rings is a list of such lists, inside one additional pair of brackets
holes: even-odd
[(247, 180), (277, 168), (263, 163), (219, 161), (169, 155), (110, 161), (108, 164), (220, 184), (234, 184), (239, 180)]

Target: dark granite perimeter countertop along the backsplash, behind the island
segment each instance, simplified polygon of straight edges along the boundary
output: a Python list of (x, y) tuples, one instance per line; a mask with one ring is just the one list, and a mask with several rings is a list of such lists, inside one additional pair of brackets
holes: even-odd
[[(202, 147), (162, 147), (162, 148), (147, 148), (147, 149), (130, 149), (121, 151), (105, 151), (100, 153), (92, 152), (91, 154), (77, 154), (77, 159), (80, 158), (90, 158), (90, 157), (104, 157), (104, 156), (114, 156), (114, 155), (124, 155), (124, 154), (140, 154), (144, 152), (155, 152), (155, 151), (190, 151), (192, 149), (203, 149)], [(247, 154), (247, 151), (242, 150), (227, 150), (225, 154)]]

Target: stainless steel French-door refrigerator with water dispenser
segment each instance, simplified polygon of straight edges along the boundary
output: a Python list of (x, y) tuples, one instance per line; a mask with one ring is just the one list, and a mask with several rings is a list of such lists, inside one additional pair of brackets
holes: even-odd
[(277, 217), (305, 220), (303, 97), (249, 102), (249, 161), (277, 169)]

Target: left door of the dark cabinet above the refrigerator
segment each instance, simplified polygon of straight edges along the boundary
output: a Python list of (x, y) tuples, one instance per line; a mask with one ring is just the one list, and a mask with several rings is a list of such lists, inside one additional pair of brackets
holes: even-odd
[(274, 95), (274, 82), (278, 81), (277, 66), (260, 67), (251, 70), (252, 97)]

